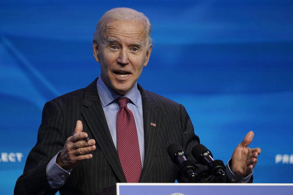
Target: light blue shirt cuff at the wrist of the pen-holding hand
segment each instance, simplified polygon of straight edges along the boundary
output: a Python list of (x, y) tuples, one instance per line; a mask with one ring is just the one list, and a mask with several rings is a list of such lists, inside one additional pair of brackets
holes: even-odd
[[(60, 152), (58, 152), (58, 154)], [(48, 182), (49, 182), (50, 186), (52, 187), (52, 189), (55, 189), (55, 188), (62, 186), (65, 183), (66, 179), (68, 178), (68, 176), (70, 175), (70, 172), (72, 170), (72, 168), (69, 170), (64, 170), (59, 165), (57, 165), (56, 158), (57, 158), (58, 154), (56, 154), (49, 161), (47, 168), (46, 168), (47, 179), (48, 179)]]

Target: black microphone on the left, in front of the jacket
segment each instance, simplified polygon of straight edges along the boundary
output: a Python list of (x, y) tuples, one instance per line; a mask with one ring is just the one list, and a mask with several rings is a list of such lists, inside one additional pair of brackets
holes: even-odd
[(188, 177), (190, 180), (198, 178), (194, 162), (187, 159), (187, 155), (180, 144), (170, 144), (167, 151), (171, 160), (178, 165), (183, 176)]

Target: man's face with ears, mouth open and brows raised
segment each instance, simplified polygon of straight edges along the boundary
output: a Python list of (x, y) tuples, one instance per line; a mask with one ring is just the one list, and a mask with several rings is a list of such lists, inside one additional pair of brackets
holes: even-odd
[(101, 64), (104, 83), (120, 95), (135, 85), (150, 58), (146, 45), (145, 25), (139, 21), (113, 21), (103, 29), (99, 45), (93, 41), (93, 52)]

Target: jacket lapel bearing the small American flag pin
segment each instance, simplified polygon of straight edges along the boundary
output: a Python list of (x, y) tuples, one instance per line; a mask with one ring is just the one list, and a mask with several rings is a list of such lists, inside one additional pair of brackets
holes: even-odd
[[(157, 145), (157, 135), (160, 127), (161, 112), (157, 110), (158, 105), (156, 101), (150, 96), (150, 94), (143, 90), (140, 85), (138, 85), (138, 89), (141, 92), (143, 101), (143, 127), (145, 138), (145, 158), (143, 171), (139, 182), (144, 183), (147, 180), (147, 176), (150, 174), (150, 169), (154, 160)], [(151, 123), (155, 123), (156, 126), (150, 125)]]

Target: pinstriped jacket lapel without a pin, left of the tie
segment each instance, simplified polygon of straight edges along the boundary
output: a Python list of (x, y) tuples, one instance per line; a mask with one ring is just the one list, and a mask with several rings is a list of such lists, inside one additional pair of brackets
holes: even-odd
[(126, 182), (96, 89), (96, 81), (97, 79), (85, 88), (83, 105), (87, 108), (83, 109), (82, 115), (118, 179), (120, 182)]

